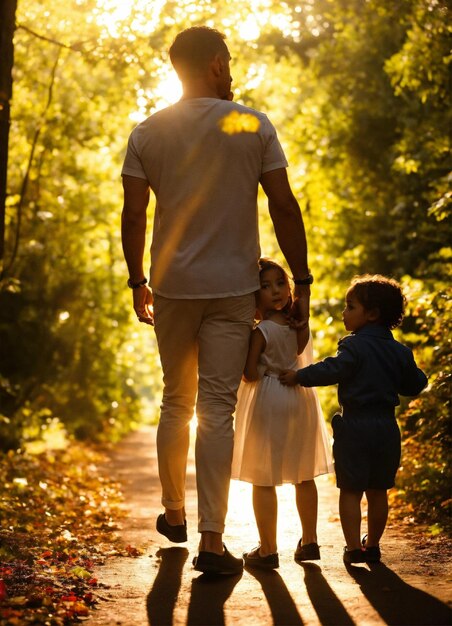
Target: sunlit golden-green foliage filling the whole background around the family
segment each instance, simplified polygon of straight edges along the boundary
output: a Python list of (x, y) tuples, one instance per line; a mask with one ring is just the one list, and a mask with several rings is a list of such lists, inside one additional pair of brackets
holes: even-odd
[[(400, 489), (436, 523), (444, 508), (428, 506), (427, 493), (448, 498), (447, 3), (119, 7), (19, 3), (0, 287), (2, 445), (17, 446), (54, 417), (92, 438), (129, 428), (143, 404), (155, 411), (155, 340), (132, 319), (124, 288), (120, 169), (133, 125), (172, 99), (174, 35), (207, 23), (228, 36), (235, 99), (268, 113), (289, 158), (316, 277), (316, 357), (334, 353), (344, 333), (342, 302), (354, 274), (389, 274), (408, 290), (403, 338), (430, 387), (400, 412)], [(262, 251), (280, 258), (263, 196), (259, 213)], [(335, 390), (321, 396), (329, 418)]]

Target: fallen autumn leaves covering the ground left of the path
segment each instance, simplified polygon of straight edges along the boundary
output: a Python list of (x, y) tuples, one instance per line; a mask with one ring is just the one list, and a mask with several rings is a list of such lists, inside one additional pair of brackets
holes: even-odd
[(94, 567), (109, 555), (140, 554), (115, 532), (121, 497), (98, 470), (102, 460), (75, 445), (0, 455), (1, 624), (78, 622), (99, 599)]

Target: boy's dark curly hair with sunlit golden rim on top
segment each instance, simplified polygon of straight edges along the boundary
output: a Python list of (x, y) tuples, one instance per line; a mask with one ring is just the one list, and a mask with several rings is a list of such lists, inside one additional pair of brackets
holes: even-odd
[(406, 298), (402, 287), (393, 278), (380, 274), (355, 276), (348, 293), (353, 294), (366, 310), (377, 309), (377, 321), (382, 326), (397, 328), (401, 324)]

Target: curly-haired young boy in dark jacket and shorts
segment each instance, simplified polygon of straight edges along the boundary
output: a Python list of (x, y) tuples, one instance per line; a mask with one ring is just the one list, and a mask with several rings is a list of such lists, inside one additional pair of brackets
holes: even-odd
[[(281, 383), (289, 386), (338, 384), (342, 412), (332, 419), (333, 454), (346, 564), (380, 561), (387, 490), (394, 486), (401, 453), (395, 407), (399, 395), (418, 395), (427, 385), (411, 350), (391, 333), (404, 310), (405, 297), (395, 280), (380, 275), (354, 278), (342, 315), (351, 334), (339, 341), (337, 355), (280, 375)], [(364, 492), (368, 533), (361, 539)]]

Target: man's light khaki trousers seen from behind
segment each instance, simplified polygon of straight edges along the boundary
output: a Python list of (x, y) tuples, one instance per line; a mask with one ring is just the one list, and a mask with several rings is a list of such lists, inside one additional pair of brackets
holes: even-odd
[(196, 406), (198, 531), (224, 532), (234, 443), (233, 413), (256, 309), (254, 294), (178, 300), (154, 295), (163, 368), (157, 430), (162, 504), (185, 505), (190, 421)]

